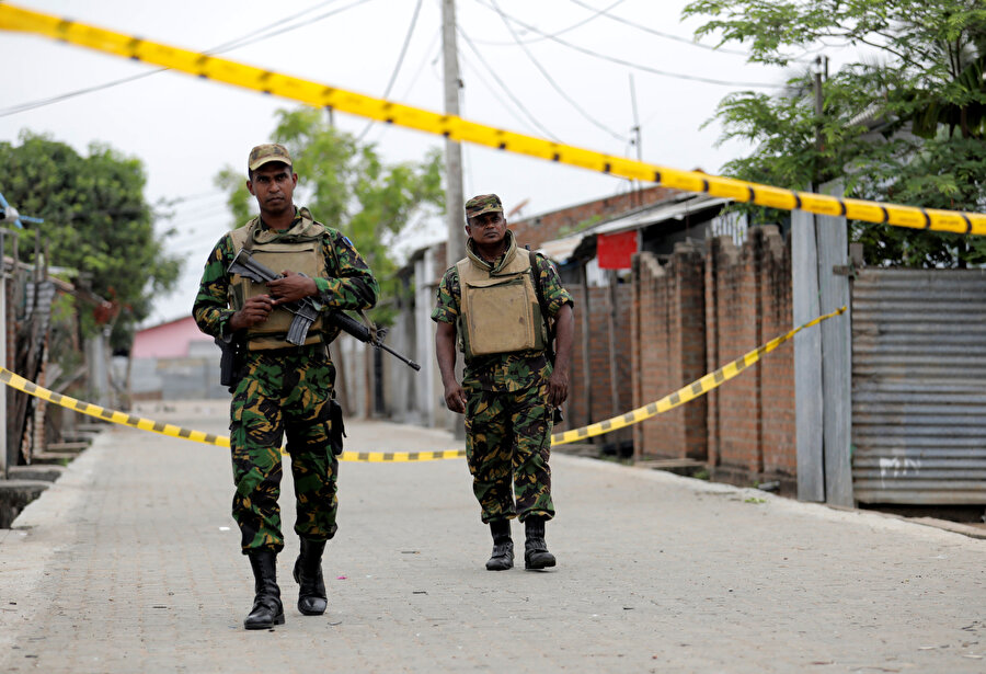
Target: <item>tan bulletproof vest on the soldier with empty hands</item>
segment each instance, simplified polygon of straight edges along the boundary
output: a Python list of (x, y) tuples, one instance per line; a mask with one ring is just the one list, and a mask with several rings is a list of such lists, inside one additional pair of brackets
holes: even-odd
[(467, 359), (516, 351), (543, 351), (544, 321), (531, 278), (530, 255), (511, 241), (497, 266), (483, 262), (467, 242), (459, 274), (459, 349)]

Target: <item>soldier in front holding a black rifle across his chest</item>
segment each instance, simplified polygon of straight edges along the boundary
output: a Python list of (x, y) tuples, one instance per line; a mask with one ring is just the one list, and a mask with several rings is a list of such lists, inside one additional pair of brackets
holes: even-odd
[[(326, 347), (339, 328), (325, 318), (330, 311), (372, 307), (378, 287), (352, 241), (294, 205), (298, 175), (286, 148), (253, 148), (248, 178), (260, 216), (213, 249), (192, 312), (203, 332), (238, 345), (231, 350), (237, 353), (230, 389), (232, 515), (254, 575), (255, 598), (244, 626), (265, 629), (285, 620), (276, 573), (277, 553), (285, 546), (277, 503), (285, 437), (295, 482), (295, 533), (300, 538), (294, 566), (300, 585), (298, 610), (321, 615), (326, 608), (321, 562), (325, 542), (337, 528), (342, 416), (333, 413), (339, 410), (333, 399), (335, 366)], [(257, 283), (230, 272), (242, 250), (280, 276)], [(314, 307), (317, 316), (307, 332), (299, 333), (288, 308), (301, 304)]]

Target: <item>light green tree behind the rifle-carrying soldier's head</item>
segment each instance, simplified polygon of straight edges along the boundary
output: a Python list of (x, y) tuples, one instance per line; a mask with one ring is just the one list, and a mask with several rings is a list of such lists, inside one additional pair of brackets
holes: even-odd
[[(321, 111), (302, 107), (277, 114), (274, 140), (288, 148), (298, 173), (295, 202), (356, 243), (380, 282), (382, 301), (375, 320), (389, 322), (388, 300), (401, 292), (391, 249), (416, 221), (445, 209), (440, 152), (433, 149), (420, 162), (387, 164), (372, 145), (360, 145), (332, 127)], [(229, 191), (237, 227), (255, 212), (244, 171), (228, 167), (216, 176), (216, 184)]]

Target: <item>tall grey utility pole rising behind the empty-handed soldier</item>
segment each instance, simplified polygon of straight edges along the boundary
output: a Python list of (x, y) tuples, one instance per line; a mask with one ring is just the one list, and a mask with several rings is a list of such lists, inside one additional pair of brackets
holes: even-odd
[[(442, 46), (445, 60), (445, 114), (459, 116), (459, 53), (456, 45), (456, 1), (442, 0)], [(466, 256), (465, 215), (462, 207), (462, 146), (445, 139), (445, 202), (448, 243), (445, 247), (446, 266)]]

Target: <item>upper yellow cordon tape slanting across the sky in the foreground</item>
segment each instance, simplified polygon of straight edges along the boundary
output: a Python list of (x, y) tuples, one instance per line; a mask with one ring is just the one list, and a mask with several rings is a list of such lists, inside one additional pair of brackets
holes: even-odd
[(0, 4), (0, 30), (35, 33), (89, 47), (98, 52), (163, 66), (196, 77), (252, 89), (316, 107), (387, 122), (428, 134), (437, 134), (461, 142), (472, 142), (508, 152), (536, 157), (573, 167), (601, 171), (620, 178), (655, 182), (686, 192), (749, 202), (783, 210), (806, 210), (819, 215), (846, 216), (851, 220), (886, 222), (912, 229), (933, 229), (963, 235), (986, 235), (986, 214), (961, 213), (881, 204), (862, 199), (845, 199), (811, 192), (798, 192), (748, 183), (697, 171), (679, 171), (623, 157), (614, 157), (534, 136), (515, 134), (492, 126), (468, 122), (458, 116), (374, 99), (352, 91), (328, 87), (253, 66), (197, 54), (177, 47), (114, 33), (49, 14)]

